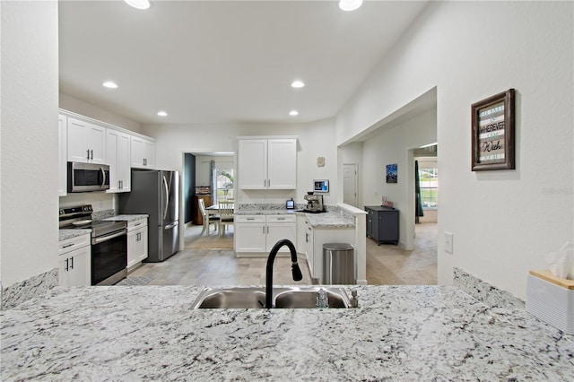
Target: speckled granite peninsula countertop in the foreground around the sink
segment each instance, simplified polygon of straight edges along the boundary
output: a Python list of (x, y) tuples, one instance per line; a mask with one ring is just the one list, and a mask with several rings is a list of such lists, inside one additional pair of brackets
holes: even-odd
[(201, 287), (56, 288), (1, 313), (3, 381), (574, 379), (574, 336), (457, 287), (361, 308), (191, 309)]

